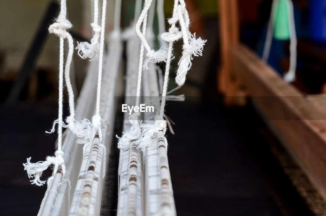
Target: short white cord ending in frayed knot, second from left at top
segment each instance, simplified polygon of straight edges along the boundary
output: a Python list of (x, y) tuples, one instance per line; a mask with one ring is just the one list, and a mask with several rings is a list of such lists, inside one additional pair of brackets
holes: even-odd
[(101, 32), (101, 26), (98, 25), (98, 0), (94, 1), (94, 22), (91, 23), (91, 26), (93, 27), (94, 36), (91, 39), (91, 43), (84, 41), (81, 43), (78, 43), (76, 50), (78, 50), (78, 55), (85, 59), (89, 58), (90, 61), (93, 60), (93, 58), (99, 54), (100, 52), (100, 44), (98, 42), (100, 32)]

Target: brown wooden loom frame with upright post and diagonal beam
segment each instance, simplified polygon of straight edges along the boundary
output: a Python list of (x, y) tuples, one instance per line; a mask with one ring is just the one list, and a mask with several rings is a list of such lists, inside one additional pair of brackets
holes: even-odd
[(239, 42), (238, 0), (219, 0), (219, 11), (222, 68), (218, 86), (226, 96), (225, 103), (242, 105), (245, 95), (251, 97), (267, 125), (326, 200), (325, 108), (286, 83)]

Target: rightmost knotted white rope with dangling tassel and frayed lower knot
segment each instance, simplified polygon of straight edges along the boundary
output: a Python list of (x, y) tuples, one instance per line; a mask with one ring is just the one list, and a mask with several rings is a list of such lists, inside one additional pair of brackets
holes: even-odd
[[(180, 23), (181, 32), (175, 26), (177, 22)], [(184, 40), (183, 54), (178, 63), (179, 67), (175, 79), (176, 83), (181, 86), (185, 83), (185, 77), (188, 70), (191, 68), (191, 60), (193, 59), (193, 56), (202, 55), (205, 42), (207, 41), (201, 38), (196, 39), (196, 33), (194, 33), (194, 35), (190, 33), (189, 15), (185, 8), (185, 2), (183, 0), (174, 1), (173, 14), (172, 18), (169, 19), (169, 23), (171, 24), (169, 32), (165, 32), (161, 36), (163, 40), (169, 42), (169, 48), (165, 67), (160, 115), (155, 117), (154, 125), (141, 124), (142, 136), (136, 142), (142, 149), (145, 149), (150, 144), (150, 139), (151, 137), (153, 137), (153, 135), (155, 135), (155, 133), (157, 133), (158, 131), (162, 131), (163, 134), (165, 134), (166, 132), (167, 121), (163, 119), (163, 116), (169, 84), (170, 62), (172, 60), (173, 42), (180, 38), (183, 38)]]

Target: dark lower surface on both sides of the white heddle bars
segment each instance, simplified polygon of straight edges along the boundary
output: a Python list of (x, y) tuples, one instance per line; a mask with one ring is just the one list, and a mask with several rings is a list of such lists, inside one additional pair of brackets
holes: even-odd
[[(1, 108), (1, 215), (37, 214), (46, 186), (30, 185), (22, 163), (54, 152), (55, 137), (44, 131), (56, 112), (55, 102)], [(178, 215), (312, 215), (250, 106), (169, 102), (166, 114), (176, 123), (176, 134), (168, 132), (168, 156)]]

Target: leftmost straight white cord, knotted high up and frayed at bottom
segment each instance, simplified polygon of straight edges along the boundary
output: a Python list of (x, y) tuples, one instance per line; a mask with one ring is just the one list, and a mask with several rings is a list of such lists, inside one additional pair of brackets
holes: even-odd
[[(51, 164), (54, 165), (53, 168), (53, 174), (56, 174), (59, 166), (61, 166), (62, 174), (65, 175), (66, 167), (64, 164), (64, 152), (62, 151), (62, 127), (65, 127), (66, 125), (62, 121), (63, 116), (63, 109), (62, 109), (62, 103), (63, 103), (63, 72), (64, 72), (64, 39), (68, 40), (69, 43), (69, 49), (72, 44), (73, 48), (73, 40), (71, 35), (67, 32), (67, 29), (72, 27), (72, 24), (67, 20), (67, 6), (66, 6), (66, 0), (61, 0), (61, 10), (58, 18), (56, 19), (56, 22), (50, 25), (49, 32), (54, 33), (60, 37), (60, 56), (59, 56), (59, 110), (58, 110), (58, 120), (54, 122), (55, 124), (58, 124), (58, 149), (55, 151), (55, 156), (48, 156), (46, 158), (46, 161), (42, 162), (36, 162), (31, 163), (31, 157), (27, 158), (27, 163), (23, 163), (24, 170), (27, 171), (29, 178), (34, 178), (30, 180), (32, 184), (36, 184), (37, 186), (41, 186), (45, 183), (45, 181), (40, 180), (40, 177), (42, 176), (42, 173), (44, 170), (46, 170)], [(70, 68), (72, 60), (72, 54), (70, 55), (70, 52), (67, 55), (67, 61), (66, 61), (66, 68)], [(54, 127), (53, 125), (53, 127)], [(53, 175), (54, 176), (54, 175)], [(53, 178), (50, 177), (49, 181)]]

